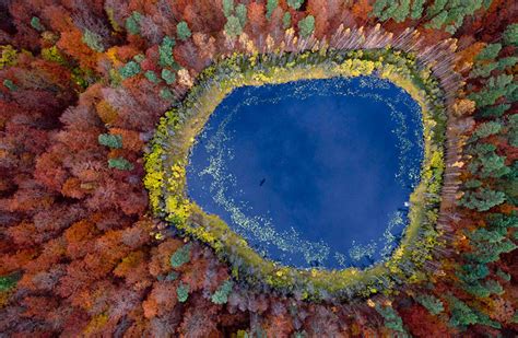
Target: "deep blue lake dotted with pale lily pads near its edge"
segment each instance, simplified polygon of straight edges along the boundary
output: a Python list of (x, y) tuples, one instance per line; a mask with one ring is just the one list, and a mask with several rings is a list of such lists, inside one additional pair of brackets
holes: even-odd
[(264, 257), (365, 267), (398, 245), (422, 158), (420, 107), (386, 80), (247, 86), (198, 137), (187, 191)]

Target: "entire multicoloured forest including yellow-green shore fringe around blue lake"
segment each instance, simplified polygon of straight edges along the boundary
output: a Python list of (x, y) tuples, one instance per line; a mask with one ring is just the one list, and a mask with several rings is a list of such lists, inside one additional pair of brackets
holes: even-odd
[[(0, 1), (0, 336), (515, 337), (513, 0)], [(369, 269), (258, 258), (183, 195), (233, 88), (374, 74), (422, 107)]]

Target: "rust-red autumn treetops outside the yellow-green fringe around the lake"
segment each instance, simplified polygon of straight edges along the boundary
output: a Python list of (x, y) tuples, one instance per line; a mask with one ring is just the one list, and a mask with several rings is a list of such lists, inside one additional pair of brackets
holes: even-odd
[[(238, 37), (225, 32), (228, 2), (234, 11), (228, 18), (239, 16), (239, 4), (246, 8), (246, 15), (235, 21), (239, 26), (233, 27), (242, 28)], [(502, 40), (518, 18), (516, 3), (483, 1), (490, 3), (485, 8), (472, 1), (481, 2), (473, 12), (456, 12), (448, 4), (433, 13), (427, 12), (433, 3), (444, 1), (398, 1), (425, 7), (422, 16), (409, 12), (398, 21), (376, 16), (376, 2), (382, 1), (0, 2), (0, 333), (516, 335), (516, 60), (498, 63), (516, 57), (516, 39)], [(386, 11), (388, 7), (380, 15)], [(459, 11), (463, 14), (456, 16)], [(434, 19), (439, 15), (447, 16), (443, 24)], [(304, 21), (309, 16), (314, 24)], [(187, 23), (189, 38), (176, 37), (179, 22)], [(447, 253), (428, 267), (435, 271), (429, 283), (351, 304), (311, 304), (296, 294), (250, 290), (211, 249), (150, 214), (142, 184), (148, 141), (160, 117), (184, 97), (201, 70), (234, 51), (254, 54), (268, 44), (274, 46), (271, 50), (289, 48), (285, 35), (303, 38), (301, 30), (309, 33), (308, 39), (328, 40), (340, 25), (369, 30), (378, 23), (395, 36), (415, 30), (423, 49), (450, 37), (459, 48), (456, 69), (466, 85), (452, 106), (466, 124), (456, 126), (463, 136), (452, 140), (462, 156), (451, 163), (459, 189), (450, 193), (460, 205), (450, 206)], [(502, 44), (499, 51), (478, 59), (492, 44)], [(487, 77), (475, 77), (470, 75), (473, 67), (491, 69)], [(501, 126), (485, 125), (490, 121)], [(121, 147), (99, 143), (99, 135), (120, 137)], [(480, 162), (478, 168), (469, 165), (472, 159)], [(474, 234), (480, 229), (487, 232)], [(172, 265), (172, 255), (186, 245), (188, 261)], [(476, 260), (490, 249), (498, 259)], [(473, 277), (479, 264), (487, 268), (486, 276)], [(214, 303), (212, 295), (228, 280), (235, 282), (227, 302)], [(178, 295), (180, 285), (188, 290), (186, 300)], [(444, 310), (432, 314), (417, 301), (421, 293), (433, 293)]]

